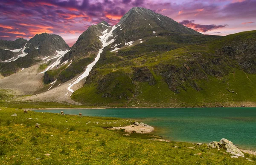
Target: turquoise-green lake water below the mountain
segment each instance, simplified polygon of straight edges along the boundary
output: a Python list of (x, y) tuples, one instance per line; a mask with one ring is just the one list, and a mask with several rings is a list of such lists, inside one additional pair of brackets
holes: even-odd
[(226, 138), (240, 148), (256, 150), (256, 108), (60, 108), (35, 111), (137, 119), (155, 127), (152, 134), (172, 141), (209, 143)]

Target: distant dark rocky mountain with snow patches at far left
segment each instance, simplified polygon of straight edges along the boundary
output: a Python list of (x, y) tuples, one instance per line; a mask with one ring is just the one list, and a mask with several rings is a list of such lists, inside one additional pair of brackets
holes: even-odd
[(69, 46), (58, 35), (36, 34), (29, 41), (22, 38), (15, 41), (0, 40), (0, 73), (9, 76), (21, 68), (28, 68), (42, 59), (66, 51)]

